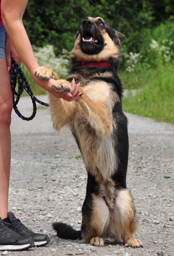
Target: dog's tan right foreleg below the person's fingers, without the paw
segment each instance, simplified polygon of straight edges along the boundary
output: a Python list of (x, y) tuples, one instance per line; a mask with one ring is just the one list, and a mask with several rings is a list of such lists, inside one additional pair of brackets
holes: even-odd
[[(107, 136), (112, 131), (113, 116), (106, 102), (95, 102), (83, 91), (79, 98), (79, 104), (83, 109), (84, 115), (88, 118), (91, 127), (97, 131), (99, 136)], [(109, 100), (108, 100), (109, 101)]]

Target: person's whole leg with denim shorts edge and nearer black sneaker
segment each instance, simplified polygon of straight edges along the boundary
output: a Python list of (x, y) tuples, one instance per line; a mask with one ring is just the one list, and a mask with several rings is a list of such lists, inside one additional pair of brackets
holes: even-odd
[(35, 246), (33, 237), (18, 234), (5, 222), (8, 219), (10, 180), (12, 90), (6, 67), (5, 30), (0, 26), (0, 251), (26, 250)]

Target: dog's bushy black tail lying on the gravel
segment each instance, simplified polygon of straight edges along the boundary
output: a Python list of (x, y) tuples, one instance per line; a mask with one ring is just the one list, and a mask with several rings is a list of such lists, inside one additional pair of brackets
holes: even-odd
[(63, 239), (81, 239), (81, 230), (75, 230), (70, 225), (62, 222), (56, 222), (52, 224), (52, 227), (57, 232), (57, 236)]

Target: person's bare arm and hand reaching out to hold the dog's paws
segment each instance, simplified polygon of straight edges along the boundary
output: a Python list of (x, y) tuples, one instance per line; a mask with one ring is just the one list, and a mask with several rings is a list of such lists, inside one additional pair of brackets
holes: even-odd
[(80, 95), (79, 85), (74, 84), (74, 86), (72, 86), (71, 93), (56, 93), (51, 88), (52, 84), (54, 84), (54, 79), (43, 81), (35, 76), (35, 70), (39, 65), (33, 53), (26, 29), (24, 28), (24, 24), (22, 22), (22, 17), (24, 15), (27, 3), (28, 0), (1, 1), (1, 15), (3, 23), (13, 46), (19, 54), (20, 60), (24, 63), (24, 65), (26, 65), (35, 82), (42, 86), (42, 88), (50, 93), (53, 93), (56, 97), (63, 97), (63, 99), (66, 100), (78, 99)]

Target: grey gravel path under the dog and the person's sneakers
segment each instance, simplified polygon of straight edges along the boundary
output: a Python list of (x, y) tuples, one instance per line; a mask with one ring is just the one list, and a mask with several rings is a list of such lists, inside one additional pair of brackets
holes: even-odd
[[(47, 102), (47, 96), (39, 97)], [(20, 110), (29, 115), (28, 97)], [(51, 237), (49, 246), (27, 252), (0, 255), (54, 256), (173, 256), (174, 255), (174, 125), (127, 113), (129, 119), (129, 169), (131, 188), (139, 218), (136, 237), (144, 248), (118, 244), (103, 248), (82, 241), (58, 239), (51, 223), (65, 221), (81, 226), (81, 206), (86, 190), (86, 170), (68, 129), (52, 128), (48, 108), (39, 106), (33, 121), (12, 115), (12, 175), (10, 211), (35, 232)]]

